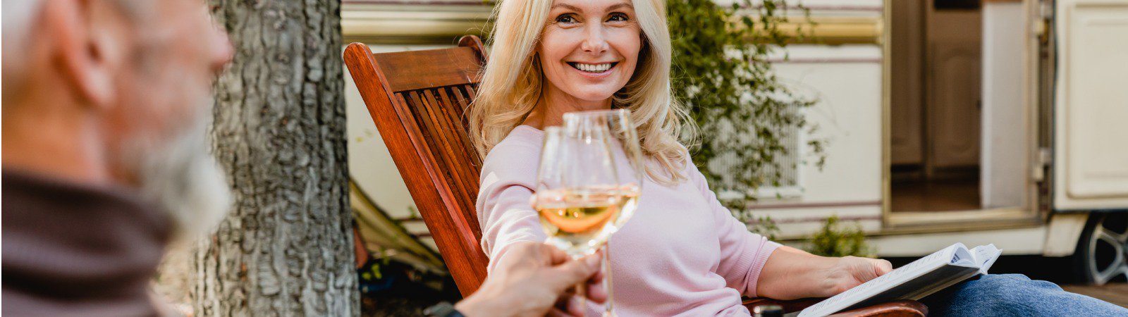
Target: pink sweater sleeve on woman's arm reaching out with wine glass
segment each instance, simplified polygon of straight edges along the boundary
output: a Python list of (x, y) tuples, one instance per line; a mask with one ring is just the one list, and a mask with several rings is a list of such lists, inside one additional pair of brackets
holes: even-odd
[(497, 259), (513, 243), (544, 243), (547, 238), (537, 212), (529, 205), (537, 156), (528, 157), (522, 149), (513, 148), (518, 147), (495, 148), (482, 167), (476, 208), (482, 250), (490, 257), (487, 272), (493, 272)]

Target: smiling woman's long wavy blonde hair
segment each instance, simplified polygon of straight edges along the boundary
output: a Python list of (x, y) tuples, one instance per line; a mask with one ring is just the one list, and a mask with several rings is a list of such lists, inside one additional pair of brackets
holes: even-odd
[[(673, 50), (661, 0), (632, 0), (643, 34), (638, 65), (626, 86), (613, 96), (614, 108), (631, 111), (643, 153), (659, 165), (646, 165), (646, 174), (661, 184), (686, 179), (681, 173), (688, 151), (679, 137), (694, 140), (696, 127), (688, 112), (670, 91)], [(545, 77), (536, 50), (548, 20), (552, 0), (502, 0), (495, 21), (478, 96), (468, 116), (470, 140), (485, 157), (532, 112)]]

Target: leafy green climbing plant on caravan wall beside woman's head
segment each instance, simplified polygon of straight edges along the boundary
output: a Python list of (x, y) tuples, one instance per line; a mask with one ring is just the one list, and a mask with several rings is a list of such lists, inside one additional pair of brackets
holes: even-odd
[[(756, 6), (743, 0), (731, 7), (712, 0), (667, 1), (673, 94), (686, 103), (703, 131), (699, 143), (691, 144), (696, 147), (693, 159), (714, 190), (743, 194), (724, 203), (749, 222), (755, 219), (744, 206), (755, 201), (754, 191), (779, 185), (783, 168), (776, 158), (788, 155), (782, 142), (788, 131), (784, 127), (799, 127), (808, 134), (816, 129), (801, 113), (816, 100), (783, 86), (768, 61), (769, 53), (796, 39), (779, 28), (788, 20), (785, 5), (783, 0), (764, 0)], [(800, 8), (809, 17), (808, 10)], [(804, 33), (799, 34), (802, 37)], [(808, 141), (807, 146), (821, 168), (823, 141)], [(708, 168), (721, 155), (731, 158), (733, 153), (735, 167)], [(720, 175), (730, 177), (726, 180)]]

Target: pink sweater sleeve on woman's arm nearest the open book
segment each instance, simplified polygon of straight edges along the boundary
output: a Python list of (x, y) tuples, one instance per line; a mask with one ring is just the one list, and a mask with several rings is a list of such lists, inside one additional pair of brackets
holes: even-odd
[(721, 263), (716, 273), (724, 276), (728, 287), (737, 289), (744, 296), (756, 297), (756, 283), (759, 281), (760, 270), (779, 244), (748, 231), (748, 226), (737, 220), (716, 199), (716, 194), (708, 188), (700, 170), (697, 170), (693, 162), (687, 165), (688, 182), (700, 191), (710, 205), (710, 212), (716, 220), (717, 240), (721, 246)]

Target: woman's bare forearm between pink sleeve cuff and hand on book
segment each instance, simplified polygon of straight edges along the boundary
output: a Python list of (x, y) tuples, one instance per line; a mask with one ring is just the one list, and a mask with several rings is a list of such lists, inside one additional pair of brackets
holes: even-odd
[(826, 284), (826, 276), (837, 262), (837, 257), (781, 246), (764, 264), (756, 294), (782, 300), (826, 297), (831, 287)]

